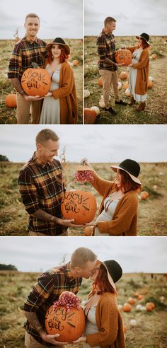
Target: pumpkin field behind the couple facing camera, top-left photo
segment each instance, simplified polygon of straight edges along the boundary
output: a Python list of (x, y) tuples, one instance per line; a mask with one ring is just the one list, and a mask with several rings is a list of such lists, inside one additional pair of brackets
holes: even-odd
[[(50, 42), (51, 40), (46, 40)], [(67, 45), (71, 47), (71, 55), (69, 63), (74, 70), (76, 82), (76, 94), (78, 98), (78, 123), (82, 123), (83, 114), (83, 51), (82, 40), (67, 39)], [(16, 93), (7, 77), (8, 61), (14, 46), (14, 40), (0, 40), (0, 124), (16, 124), (16, 108), (11, 108), (6, 105), (6, 96), (11, 93)], [(76, 64), (77, 62), (77, 64)], [(10, 103), (11, 104), (11, 103)]]

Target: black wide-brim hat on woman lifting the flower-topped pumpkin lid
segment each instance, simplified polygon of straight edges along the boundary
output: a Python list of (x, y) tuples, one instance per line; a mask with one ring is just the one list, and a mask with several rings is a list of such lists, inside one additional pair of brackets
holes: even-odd
[(142, 182), (139, 181), (137, 178), (140, 172), (140, 166), (139, 163), (136, 161), (133, 161), (131, 159), (126, 159), (125, 161), (122, 161), (119, 166), (110, 166), (115, 172), (117, 169), (125, 170), (126, 173), (129, 174), (130, 178), (137, 182), (137, 184), (142, 185)]

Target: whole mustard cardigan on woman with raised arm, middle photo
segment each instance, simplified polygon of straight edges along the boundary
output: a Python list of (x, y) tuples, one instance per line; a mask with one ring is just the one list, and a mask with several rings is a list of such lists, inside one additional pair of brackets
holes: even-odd
[[(104, 200), (108, 195), (116, 191), (115, 184), (111, 181), (101, 179), (96, 172), (93, 172), (94, 181), (91, 182), (98, 193), (103, 196), (98, 214), (104, 209)], [(119, 200), (113, 220), (98, 221), (100, 233), (109, 233), (110, 236), (137, 236), (137, 191), (132, 190)]]

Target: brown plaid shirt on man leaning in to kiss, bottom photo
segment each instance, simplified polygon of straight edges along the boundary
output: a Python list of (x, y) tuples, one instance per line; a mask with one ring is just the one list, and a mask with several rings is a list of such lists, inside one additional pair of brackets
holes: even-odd
[[(74, 278), (70, 271), (70, 262), (67, 265), (54, 267), (41, 274), (33, 290), (28, 295), (24, 303), (23, 310), (26, 312), (36, 312), (40, 324), (45, 329), (45, 314), (47, 309), (57, 301), (63, 291), (71, 291), (77, 294), (82, 278)], [(51, 346), (52, 344), (44, 342), (38, 332), (28, 323), (25, 323), (25, 330), (32, 335), (35, 340)], [(55, 347), (55, 346), (54, 346)]]

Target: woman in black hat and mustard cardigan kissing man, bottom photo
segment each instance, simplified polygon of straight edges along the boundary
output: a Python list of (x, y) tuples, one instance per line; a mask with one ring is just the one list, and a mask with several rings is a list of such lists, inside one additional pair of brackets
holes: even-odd
[(115, 282), (122, 277), (122, 268), (114, 260), (100, 262), (91, 277), (93, 289), (84, 306), (86, 330), (74, 343), (84, 342), (84, 348), (124, 348), (122, 318), (117, 307)]

